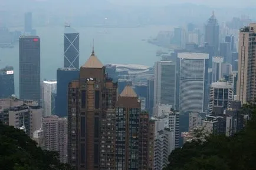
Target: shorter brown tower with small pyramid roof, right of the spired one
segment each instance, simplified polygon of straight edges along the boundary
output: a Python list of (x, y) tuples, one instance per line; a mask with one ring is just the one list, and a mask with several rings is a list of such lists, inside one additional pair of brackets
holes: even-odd
[(152, 130), (149, 113), (140, 111), (137, 94), (127, 85), (116, 104), (116, 169), (153, 168), (148, 164), (149, 149), (153, 147)]

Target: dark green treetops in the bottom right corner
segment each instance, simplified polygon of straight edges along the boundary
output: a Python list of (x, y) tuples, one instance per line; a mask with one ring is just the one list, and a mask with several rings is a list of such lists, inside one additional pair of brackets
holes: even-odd
[(248, 170), (256, 169), (256, 105), (241, 112), (251, 113), (251, 121), (235, 136), (211, 135), (206, 142), (192, 141), (169, 155), (164, 170)]

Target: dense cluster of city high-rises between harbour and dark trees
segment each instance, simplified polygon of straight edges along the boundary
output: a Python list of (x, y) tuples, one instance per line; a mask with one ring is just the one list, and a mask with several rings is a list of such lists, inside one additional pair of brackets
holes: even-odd
[[(27, 14), (27, 18), (30, 15)], [(31, 26), (27, 24), (27, 31)], [(56, 80), (41, 81), (40, 37), (19, 36), (19, 99), (11, 66), (0, 70), (0, 121), (25, 131), (38, 146), (60, 153), (77, 170), (163, 169), (195, 129), (227, 136), (248, 119), (241, 105), (255, 98), (256, 25), (219, 40), (213, 14), (202, 45), (188, 25), (189, 41), (153, 67), (103, 65), (93, 52), (79, 65), (79, 36), (64, 29), (64, 65)], [(180, 139), (183, 138), (183, 142)]]

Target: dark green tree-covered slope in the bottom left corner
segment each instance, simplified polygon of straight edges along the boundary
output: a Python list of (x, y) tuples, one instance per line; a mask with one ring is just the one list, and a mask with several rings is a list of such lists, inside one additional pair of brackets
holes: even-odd
[(1, 170), (72, 170), (61, 164), (58, 153), (37, 147), (24, 131), (0, 122)]

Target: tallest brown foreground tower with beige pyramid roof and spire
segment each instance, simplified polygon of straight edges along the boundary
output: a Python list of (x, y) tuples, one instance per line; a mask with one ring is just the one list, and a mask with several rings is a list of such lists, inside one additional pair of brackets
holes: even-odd
[[(76, 169), (114, 169), (117, 84), (92, 52), (68, 85), (68, 163)], [(58, 97), (58, 94), (57, 94)]]

